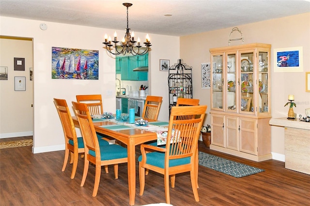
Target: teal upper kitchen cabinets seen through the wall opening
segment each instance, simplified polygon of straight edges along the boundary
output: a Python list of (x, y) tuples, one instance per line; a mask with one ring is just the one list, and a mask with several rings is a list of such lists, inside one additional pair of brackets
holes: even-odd
[[(145, 55), (141, 56), (127, 56), (116, 58), (116, 74), (121, 74), (121, 80), (130, 80), (130, 81), (147, 81), (148, 72), (143, 71), (133, 71), (135, 68), (139, 67), (142, 64), (146, 64)], [(117, 66), (120, 65), (120, 68)], [(120, 72), (118, 72), (120, 70)]]

